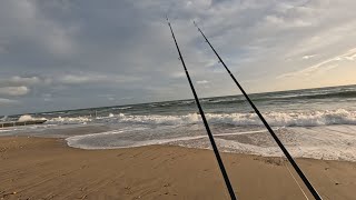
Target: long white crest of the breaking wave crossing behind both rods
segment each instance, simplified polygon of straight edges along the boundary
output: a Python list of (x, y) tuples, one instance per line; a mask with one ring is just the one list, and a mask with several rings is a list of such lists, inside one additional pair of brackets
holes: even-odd
[[(265, 112), (265, 119), (276, 127), (313, 127), (328, 124), (356, 124), (356, 111), (345, 109), (308, 111), (308, 112)], [(200, 122), (200, 116), (127, 116), (110, 114), (118, 122), (151, 123), (151, 124), (187, 124)], [(207, 113), (210, 123), (228, 123), (235, 126), (263, 126), (256, 113)]]

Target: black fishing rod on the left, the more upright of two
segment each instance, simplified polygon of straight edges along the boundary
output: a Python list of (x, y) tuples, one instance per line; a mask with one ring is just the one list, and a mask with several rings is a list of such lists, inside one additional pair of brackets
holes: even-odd
[(187, 76), (187, 79), (188, 79), (188, 81), (189, 81), (190, 89), (191, 89), (192, 94), (194, 94), (194, 98), (195, 98), (195, 100), (196, 100), (196, 102), (197, 102), (197, 106), (198, 106), (198, 109), (199, 109), (199, 113), (200, 113), (200, 116), (201, 116), (201, 119), (202, 119), (205, 129), (207, 130), (207, 133), (208, 133), (210, 143), (211, 143), (211, 147), (212, 147), (212, 150), (214, 150), (216, 160), (218, 161), (220, 171), (221, 171), (221, 173), (222, 173), (222, 177), (224, 177), (224, 180), (225, 180), (225, 184), (226, 184), (226, 187), (227, 187), (227, 189), (228, 189), (228, 191), (229, 191), (229, 194), (230, 194), (231, 200), (236, 200), (237, 198), (236, 198), (235, 192), (234, 192), (234, 189), (233, 189), (233, 187), (231, 187), (229, 177), (227, 176), (227, 172), (226, 172), (226, 170), (225, 170), (225, 167), (224, 167), (221, 157), (220, 157), (220, 154), (219, 154), (219, 150), (218, 150), (218, 148), (216, 147), (216, 143), (215, 143), (212, 133), (211, 133), (211, 131), (210, 131), (208, 121), (207, 121), (207, 119), (205, 118), (205, 113), (204, 113), (202, 108), (201, 108), (201, 106), (200, 106), (200, 102), (199, 102), (197, 92), (196, 92), (196, 90), (195, 90), (195, 88), (194, 88), (194, 86), (192, 86), (192, 82), (191, 82), (189, 72), (188, 72), (188, 70), (187, 70), (185, 60), (184, 60), (182, 57), (181, 57), (181, 53), (180, 53), (180, 50), (179, 50), (179, 47), (178, 47), (178, 43), (177, 43), (175, 33), (174, 33), (174, 30), (172, 30), (172, 28), (171, 28), (171, 26), (170, 26), (170, 22), (169, 22), (168, 18), (167, 18), (167, 22), (168, 22), (168, 26), (169, 26), (169, 28), (170, 28), (171, 36), (172, 36), (172, 38), (174, 38), (174, 40), (175, 40), (176, 48), (177, 48), (177, 50), (178, 50), (179, 60), (181, 61), (181, 64), (182, 64), (182, 67), (184, 67), (184, 69), (185, 69), (185, 71), (186, 71), (186, 76)]

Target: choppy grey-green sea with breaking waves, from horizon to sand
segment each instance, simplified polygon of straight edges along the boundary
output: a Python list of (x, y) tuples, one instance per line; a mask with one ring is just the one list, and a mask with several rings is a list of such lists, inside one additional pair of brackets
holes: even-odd
[[(291, 156), (356, 161), (356, 86), (250, 94)], [(201, 99), (219, 150), (283, 156), (243, 96)], [(32, 113), (40, 126), (0, 136), (66, 138), (82, 149), (169, 144), (209, 149), (194, 100)], [(10, 116), (7, 121), (21, 116)]]

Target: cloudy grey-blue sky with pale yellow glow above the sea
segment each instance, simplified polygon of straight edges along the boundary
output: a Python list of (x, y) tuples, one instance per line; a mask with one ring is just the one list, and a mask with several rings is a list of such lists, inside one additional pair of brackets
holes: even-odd
[(2, 0), (0, 114), (356, 83), (352, 0)]

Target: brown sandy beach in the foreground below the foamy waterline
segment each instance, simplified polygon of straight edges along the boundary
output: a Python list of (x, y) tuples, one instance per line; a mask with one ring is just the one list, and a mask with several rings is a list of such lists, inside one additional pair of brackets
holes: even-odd
[[(279, 158), (222, 153), (222, 159), (239, 199), (305, 199)], [(356, 199), (356, 163), (297, 162), (324, 199)], [(1, 198), (228, 199), (228, 194), (210, 150), (167, 146), (81, 150), (67, 147), (62, 139), (0, 137)]]

